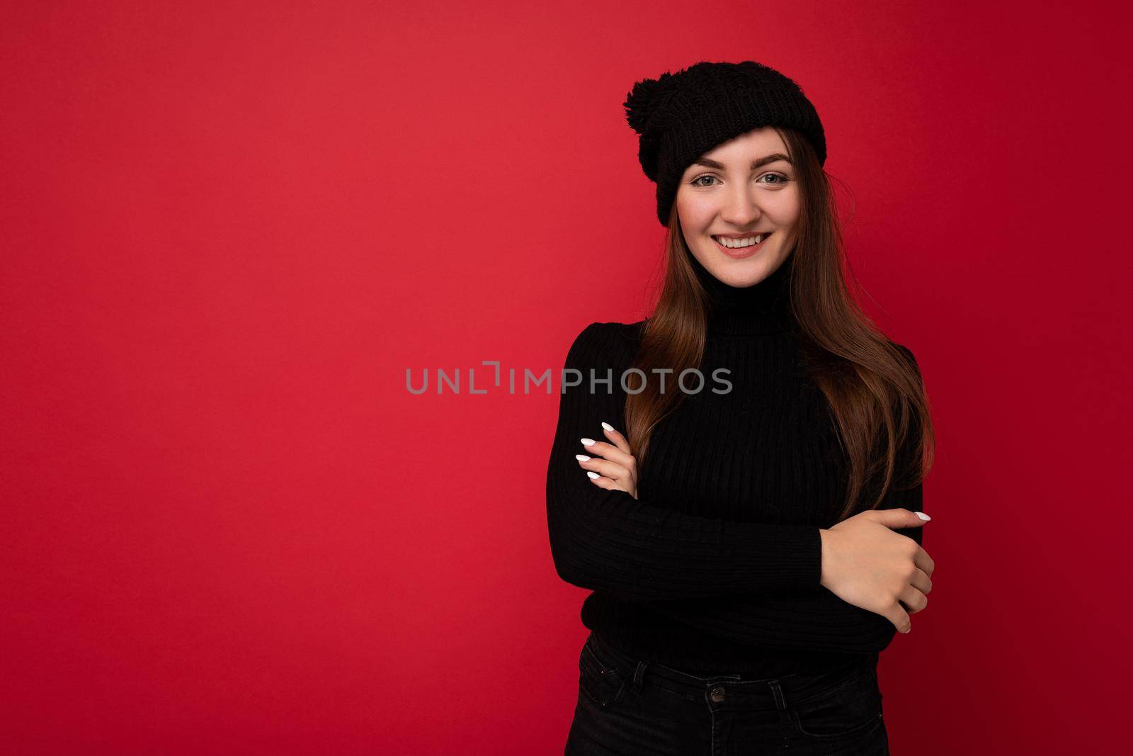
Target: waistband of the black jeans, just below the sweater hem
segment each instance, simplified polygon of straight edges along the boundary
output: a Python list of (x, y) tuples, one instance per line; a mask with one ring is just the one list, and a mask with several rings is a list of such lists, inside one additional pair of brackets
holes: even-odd
[[(586, 646), (603, 666), (616, 668), (633, 686), (656, 685), (684, 696), (704, 696), (717, 688), (726, 690), (731, 706), (744, 708), (786, 708), (789, 704), (806, 700), (810, 695), (868, 671), (877, 674), (877, 654), (866, 654), (861, 662), (851, 662), (828, 672), (807, 674), (796, 672), (775, 678), (744, 680), (740, 674), (700, 677), (689, 672), (647, 662), (615, 647), (596, 632), (590, 632)], [(719, 693), (719, 691), (718, 691)]]

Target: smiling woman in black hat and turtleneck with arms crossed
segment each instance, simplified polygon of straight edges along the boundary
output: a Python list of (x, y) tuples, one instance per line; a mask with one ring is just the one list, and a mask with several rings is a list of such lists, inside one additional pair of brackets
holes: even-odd
[(912, 352), (847, 292), (818, 114), (753, 61), (625, 109), (666, 274), (562, 374), (551, 547), (593, 591), (566, 753), (886, 754), (877, 661), (931, 591), (932, 427)]

